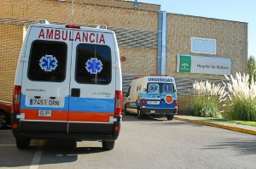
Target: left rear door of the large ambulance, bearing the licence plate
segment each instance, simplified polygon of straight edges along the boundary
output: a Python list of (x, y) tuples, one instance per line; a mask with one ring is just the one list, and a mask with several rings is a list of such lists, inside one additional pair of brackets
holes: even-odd
[(20, 132), (67, 134), (71, 31), (56, 25), (29, 29), (25, 54), (20, 56)]

